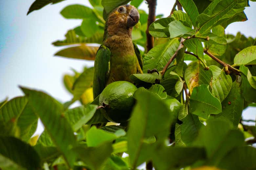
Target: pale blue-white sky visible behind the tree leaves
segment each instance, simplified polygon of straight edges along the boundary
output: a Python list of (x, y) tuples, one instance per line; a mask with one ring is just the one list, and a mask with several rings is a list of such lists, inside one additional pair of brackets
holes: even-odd
[[(93, 61), (53, 57), (61, 48), (51, 43), (64, 39), (68, 29), (81, 24), (81, 20), (64, 19), (59, 12), (70, 4), (90, 6), (87, 0), (66, 0), (55, 5), (48, 5), (41, 10), (26, 15), (34, 0), (0, 0), (0, 100), (23, 95), (18, 85), (46, 91), (60, 101), (68, 101), (72, 96), (62, 83), (64, 73), (70, 70), (82, 71), (84, 66), (93, 66)], [(158, 0), (157, 14), (168, 16), (174, 0)], [(247, 37), (256, 37), (256, 2), (245, 9), (246, 22), (232, 23), (227, 33), (238, 31)], [(147, 10), (143, 3), (142, 9)], [(248, 113), (248, 114), (247, 114)], [(256, 110), (250, 108), (246, 117), (255, 119)]]

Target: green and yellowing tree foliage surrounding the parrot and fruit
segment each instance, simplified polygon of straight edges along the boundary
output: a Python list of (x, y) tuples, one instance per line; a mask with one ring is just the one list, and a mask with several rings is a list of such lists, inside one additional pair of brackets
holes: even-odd
[[(61, 1), (36, 0), (28, 14)], [(89, 2), (92, 8), (74, 4), (60, 12), (82, 22), (53, 42), (66, 47), (55, 55), (94, 60), (108, 13), (130, 0)], [(139, 8), (142, 2), (131, 4)], [(144, 74), (131, 75), (139, 88), (126, 123), (109, 122), (99, 98), (93, 101), (94, 68), (64, 75), (74, 95), (65, 103), (20, 87), (24, 96), (0, 102), (0, 169), (135, 170), (143, 162), (157, 170), (255, 169), (256, 149), (249, 145), (256, 142), (256, 128), (244, 125), (241, 116), (256, 103), (256, 39), (225, 34), (230, 23), (247, 20), (248, 3), (179, 0), (179, 10), (157, 16), (148, 28), (155, 47), (141, 51)], [(149, 16), (139, 13), (132, 38), (143, 49)], [(158, 72), (147, 72), (153, 69)], [(70, 108), (76, 100), (81, 106)], [(38, 118), (45, 130), (32, 137)], [(96, 123), (106, 126), (97, 129)]]

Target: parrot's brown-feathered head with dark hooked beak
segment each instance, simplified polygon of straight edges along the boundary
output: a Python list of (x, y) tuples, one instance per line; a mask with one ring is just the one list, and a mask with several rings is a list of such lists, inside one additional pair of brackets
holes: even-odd
[(113, 10), (107, 19), (109, 35), (131, 34), (133, 26), (139, 22), (139, 12), (132, 5), (122, 5)]

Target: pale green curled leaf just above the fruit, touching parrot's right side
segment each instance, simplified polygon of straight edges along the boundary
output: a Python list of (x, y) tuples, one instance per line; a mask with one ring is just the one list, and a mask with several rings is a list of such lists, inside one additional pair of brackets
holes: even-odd
[(156, 83), (157, 80), (161, 80), (162, 76), (159, 73), (145, 73), (145, 74), (132, 74), (131, 80), (135, 83)]

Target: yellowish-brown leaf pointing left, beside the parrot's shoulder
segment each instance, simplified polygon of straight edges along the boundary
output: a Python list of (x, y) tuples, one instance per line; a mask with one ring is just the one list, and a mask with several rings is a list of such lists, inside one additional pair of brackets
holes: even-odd
[(87, 46), (86, 44), (81, 44), (76, 47), (69, 47), (58, 51), (54, 55), (84, 59), (84, 60), (95, 60), (95, 56), (99, 47)]

